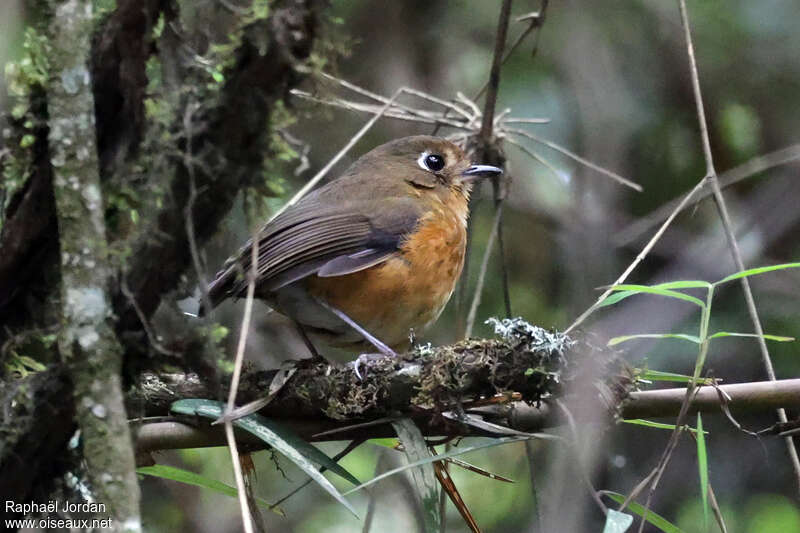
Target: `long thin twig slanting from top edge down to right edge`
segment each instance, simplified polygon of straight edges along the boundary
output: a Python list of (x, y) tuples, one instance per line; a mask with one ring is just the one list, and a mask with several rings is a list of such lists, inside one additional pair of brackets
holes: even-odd
[[(742, 260), (742, 254), (739, 250), (739, 244), (736, 242), (736, 236), (733, 233), (733, 224), (731, 222), (730, 214), (728, 213), (728, 207), (725, 203), (725, 198), (722, 196), (722, 190), (720, 189), (719, 180), (717, 179), (717, 172), (714, 169), (714, 159), (711, 155), (711, 142), (708, 137), (706, 114), (705, 110), (703, 109), (703, 96), (700, 92), (700, 77), (697, 72), (697, 62), (694, 56), (692, 34), (689, 29), (689, 15), (686, 10), (686, 0), (679, 0), (679, 5), (681, 11), (681, 23), (683, 25), (684, 36), (686, 38), (686, 51), (689, 55), (689, 64), (691, 67), (692, 89), (694, 91), (695, 103), (697, 104), (697, 120), (700, 123), (700, 137), (703, 143), (703, 154), (705, 155), (706, 159), (706, 174), (708, 175), (711, 183), (711, 189), (714, 193), (714, 200), (716, 201), (717, 209), (719, 210), (722, 226), (725, 230), (725, 237), (728, 240), (728, 246), (730, 247), (733, 261), (736, 265), (736, 269), (742, 271), (745, 270), (744, 261)], [(756, 340), (761, 351), (761, 360), (764, 365), (764, 369), (766, 370), (767, 377), (770, 379), (770, 381), (775, 381), (775, 370), (772, 367), (769, 349), (767, 348), (767, 342), (764, 339), (764, 329), (761, 327), (761, 319), (758, 316), (755, 299), (753, 298), (753, 293), (750, 290), (750, 282), (748, 281), (747, 277), (743, 277), (741, 278), (740, 283), (742, 285), (744, 299), (747, 304), (747, 312), (750, 315), (750, 320), (753, 322), (753, 328), (755, 329)], [(786, 417), (786, 411), (784, 409), (778, 409), (778, 419), (781, 422), (786, 422), (788, 420)], [(797, 455), (797, 449), (794, 446), (792, 437), (786, 437), (785, 442), (787, 451), (789, 453), (789, 460), (792, 464), (792, 468), (794, 469), (797, 490), (800, 493), (800, 457)]]

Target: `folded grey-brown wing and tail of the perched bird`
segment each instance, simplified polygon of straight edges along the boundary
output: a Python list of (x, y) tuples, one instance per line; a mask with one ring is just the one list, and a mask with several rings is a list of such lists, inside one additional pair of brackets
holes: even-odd
[[(417, 225), (411, 199), (300, 202), (259, 233), (258, 289), (269, 292), (311, 274), (341, 276), (377, 265), (397, 252)], [(239, 251), (209, 287), (216, 305), (247, 287), (252, 243)]]

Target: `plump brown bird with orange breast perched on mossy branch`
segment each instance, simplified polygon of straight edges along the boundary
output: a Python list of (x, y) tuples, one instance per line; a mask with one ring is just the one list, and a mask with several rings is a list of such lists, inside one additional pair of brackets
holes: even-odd
[[(453, 294), (473, 183), (502, 172), (440, 137), (374, 148), (258, 231), (255, 297), (294, 321), (314, 356), (318, 341), (338, 362), (370, 345), (396, 355)], [(251, 239), (209, 284), (211, 307), (247, 292), (252, 247)]]

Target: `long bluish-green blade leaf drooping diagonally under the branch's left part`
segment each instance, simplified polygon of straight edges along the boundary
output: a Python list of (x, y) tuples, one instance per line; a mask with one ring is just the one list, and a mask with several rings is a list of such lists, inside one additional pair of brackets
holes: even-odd
[[(198, 415), (212, 420), (222, 416), (225, 404), (214, 400), (178, 400), (171, 406), (175, 413), (185, 415)], [(341, 493), (336, 490), (330, 481), (317, 470), (317, 465), (324, 466), (331, 472), (338, 474), (354, 485), (358, 480), (347, 470), (330, 457), (319, 451), (316, 447), (307, 443), (292, 431), (273, 420), (268, 420), (261, 415), (251, 414), (233, 421), (233, 425), (239, 427), (256, 437), (260, 438), (272, 448), (286, 456), (287, 459), (296, 464), (301, 470), (316, 481), (328, 494), (336, 498), (342, 505), (356, 515), (355, 509), (344, 499)], [(315, 464), (316, 463), (316, 464)]]

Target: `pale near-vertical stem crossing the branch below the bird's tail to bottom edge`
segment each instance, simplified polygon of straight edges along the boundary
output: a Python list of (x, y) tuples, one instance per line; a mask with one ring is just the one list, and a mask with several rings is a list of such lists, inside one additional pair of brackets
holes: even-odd
[[(242, 375), (242, 363), (244, 362), (244, 349), (247, 345), (247, 332), (250, 330), (250, 318), (253, 313), (253, 297), (256, 291), (256, 279), (258, 278), (258, 235), (253, 235), (253, 245), (250, 249), (250, 271), (247, 279), (247, 297), (244, 304), (244, 316), (242, 317), (242, 327), (239, 331), (239, 345), (236, 347), (236, 359), (234, 360), (233, 375), (231, 376), (231, 387), (228, 392), (228, 404), (225, 411), (230, 413), (236, 406), (236, 392), (239, 389), (239, 380)], [(253, 533), (253, 518), (247, 504), (247, 493), (242, 475), (242, 466), (239, 463), (239, 450), (236, 446), (236, 437), (233, 434), (233, 422), (228, 418), (225, 420), (225, 438), (228, 441), (228, 448), (231, 452), (233, 462), (233, 474), (236, 478), (236, 488), (239, 491), (239, 507), (242, 512), (242, 523), (245, 533)]]

